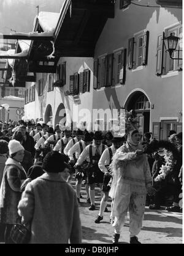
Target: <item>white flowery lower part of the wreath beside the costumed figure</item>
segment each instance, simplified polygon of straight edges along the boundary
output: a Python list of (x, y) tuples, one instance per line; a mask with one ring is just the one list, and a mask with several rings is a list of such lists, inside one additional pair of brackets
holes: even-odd
[(159, 175), (156, 176), (155, 182), (164, 180), (166, 178), (167, 174), (172, 171), (173, 167), (173, 154), (171, 151), (164, 150), (164, 159), (166, 161), (166, 164), (162, 165), (159, 170)]

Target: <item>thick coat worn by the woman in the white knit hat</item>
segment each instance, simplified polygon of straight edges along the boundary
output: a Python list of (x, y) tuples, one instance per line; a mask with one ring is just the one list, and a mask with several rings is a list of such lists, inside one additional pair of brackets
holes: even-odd
[(20, 162), (12, 158), (6, 161), (0, 189), (0, 222), (17, 222), (17, 206), (21, 198), (20, 186), (26, 179), (26, 172)]

